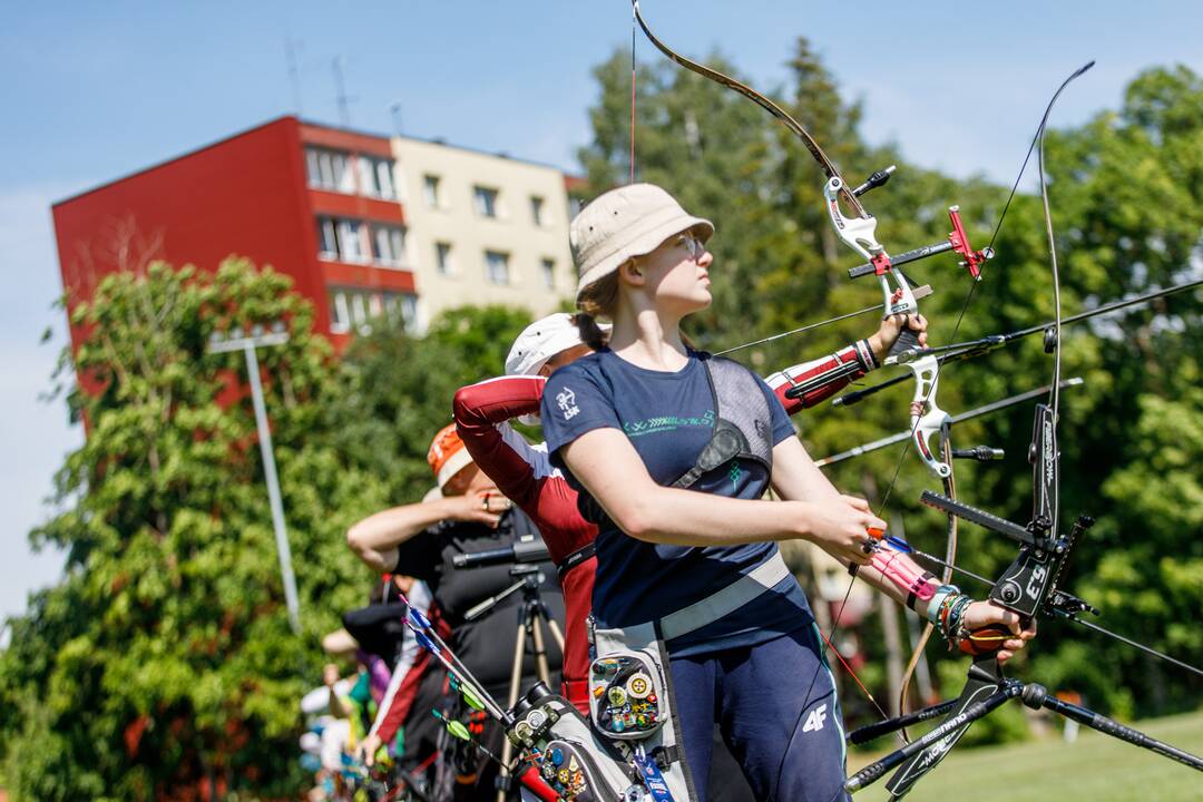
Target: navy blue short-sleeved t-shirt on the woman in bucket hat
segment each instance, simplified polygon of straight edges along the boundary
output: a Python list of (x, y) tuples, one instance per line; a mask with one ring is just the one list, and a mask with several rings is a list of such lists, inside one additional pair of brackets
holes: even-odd
[[(564, 366), (543, 393), (543, 433), (552, 462), (581, 493), (581, 512), (598, 524), (593, 614), (602, 626), (627, 626), (662, 618), (737, 581), (777, 554), (772, 542), (693, 547), (648, 543), (623, 533), (567, 469), (559, 448), (598, 428), (626, 433), (659, 485), (693, 468), (709, 442), (715, 403), (703, 360), (691, 351), (677, 372), (648, 370), (610, 350)], [(764, 381), (774, 445), (794, 435), (781, 402)], [(758, 499), (769, 486), (764, 465), (737, 459), (705, 474), (692, 489)], [(798, 581), (787, 577), (751, 604), (668, 643), (674, 657), (752, 646), (813, 620)]]

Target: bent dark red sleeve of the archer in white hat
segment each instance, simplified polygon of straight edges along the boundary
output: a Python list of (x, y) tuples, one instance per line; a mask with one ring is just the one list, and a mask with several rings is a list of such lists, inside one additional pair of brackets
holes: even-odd
[(512, 429), (503, 433), (500, 427), (520, 415), (538, 414), (544, 384), (543, 376), (490, 379), (461, 387), (452, 403), (456, 428), (468, 453), (497, 482), (497, 489), (523, 509), (537, 500), (534, 463), (540, 456), (546, 459), (546, 455), (539, 455)]

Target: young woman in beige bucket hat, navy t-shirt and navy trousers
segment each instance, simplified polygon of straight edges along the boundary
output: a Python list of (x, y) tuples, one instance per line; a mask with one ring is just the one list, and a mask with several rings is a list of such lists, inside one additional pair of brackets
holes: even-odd
[[(606, 192), (577, 215), (577, 304), (614, 328), (609, 347), (549, 379), (544, 434), (598, 524), (598, 626), (652, 623), (663, 642), (693, 794), (706, 796), (717, 721), (758, 800), (831, 802), (843, 782), (835, 687), (774, 541), (810, 540), (865, 566), (870, 530), (885, 523), (819, 473), (763, 381), (682, 341), (681, 320), (711, 302), (711, 233), (647, 184)], [(736, 456), (707, 463), (724, 427), (737, 430)], [(783, 501), (760, 500), (770, 483)], [(923, 574), (905, 557), (895, 563)], [(860, 575), (900, 602), (911, 596), (876, 569)], [(1002, 660), (1033, 635), (950, 587), (921, 595), (911, 599), (920, 614), (930, 599), (952, 598), (964, 601), (959, 625), (1007, 626)]]

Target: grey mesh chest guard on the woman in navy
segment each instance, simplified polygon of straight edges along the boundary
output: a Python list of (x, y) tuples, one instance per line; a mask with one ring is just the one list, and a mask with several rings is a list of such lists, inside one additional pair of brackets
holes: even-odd
[(715, 402), (715, 428), (693, 468), (669, 487), (692, 487), (733, 459), (752, 459), (772, 471), (772, 415), (760, 382), (731, 360), (712, 356), (701, 363)]

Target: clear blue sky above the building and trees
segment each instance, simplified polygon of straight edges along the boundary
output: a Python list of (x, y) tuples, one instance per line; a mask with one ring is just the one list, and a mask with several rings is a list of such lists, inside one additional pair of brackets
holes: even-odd
[[(1142, 69), (1203, 72), (1203, 4), (1012, 0), (994, 4), (644, 0), (677, 51), (719, 49), (754, 85), (784, 78), (805, 35), (864, 131), (911, 161), (1009, 183), (1049, 94), (1097, 59), (1054, 124), (1115, 108)], [(355, 127), (446, 137), (575, 167), (597, 99), (592, 67), (630, 47), (626, 0), (544, 2), (123, 2), (12, 5), (0, 28), (0, 616), (53, 582), (60, 560), (26, 533), (82, 438), (37, 394), (65, 343), (49, 204), (282, 113), (298, 111), (285, 41), (297, 52), (300, 111), (337, 123), (331, 63), (344, 59)], [(640, 38), (638, 54), (657, 59)], [(180, 188), (186, 191), (188, 188)], [(950, 198), (954, 201), (955, 198)], [(48, 345), (38, 345), (51, 327)]]

